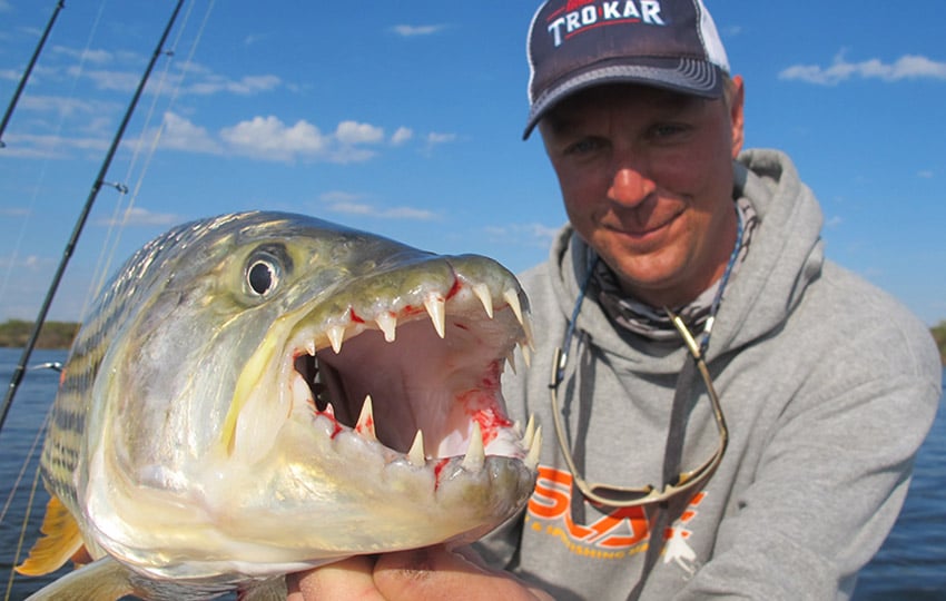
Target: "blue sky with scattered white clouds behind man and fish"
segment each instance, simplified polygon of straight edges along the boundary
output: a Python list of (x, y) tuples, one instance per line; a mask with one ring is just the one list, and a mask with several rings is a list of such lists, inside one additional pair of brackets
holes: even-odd
[[(2, 135), (0, 321), (36, 317), (175, 3), (59, 12)], [(514, 272), (544, 260), (565, 214), (539, 136), (521, 139), (538, 4), (186, 1), (49, 318), (80, 319), (104, 275), (173, 225), (237, 210)], [(746, 146), (792, 157), (828, 256), (946, 319), (946, 3), (707, 4), (746, 80)], [(0, 0), (0, 106), (56, 6)]]

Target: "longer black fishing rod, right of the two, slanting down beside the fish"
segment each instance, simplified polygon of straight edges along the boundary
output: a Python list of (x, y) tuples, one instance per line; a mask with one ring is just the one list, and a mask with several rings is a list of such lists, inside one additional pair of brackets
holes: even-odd
[(86, 205), (82, 207), (82, 211), (81, 214), (79, 214), (79, 218), (76, 220), (76, 226), (73, 227), (72, 235), (66, 245), (66, 250), (62, 254), (62, 259), (59, 262), (59, 267), (56, 269), (56, 275), (53, 275), (52, 283), (49, 285), (49, 292), (47, 292), (46, 298), (42, 302), (42, 306), (39, 309), (39, 315), (37, 315), (36, 322), (33, 323), (33, 328), (30, 333), (30, 338), (27, 342), (26, 347), (23, 348), (23, 354), (20, 357), (20, 363), (17, 364), (17, 367), (13, 371), (13, 377), (10, 378), (10, 386), (7, 388), (7, 395), (3, 398), (3, 405), (0, 406), (0, 432), (3, 431), (3, 423), (7, 421), (7, 414), (10, 412), (10, 405), (13, 404), (13, 396), (17, 394), (17, 388), (19, 388), (20, 382), (23, 380), (23, 374), (27, 370), (27, 363), (30, 361), (30, 355), (32, 354), (33, 347), (36, 347), (36, 342), (39, 338), (39, 332), (42, 328), (43, 323), (46, 323), (46, 315), (47, 313), (49, 313), (49, 306), (52, 304), (52, 297), (56, 295), (57, 288), (59, 288), (59, 283), (62, 279), (62, 274), (66, 272), (66, 266), (68, 265), (69, 259), (72, 257), (72, 252), (76, 249), (76, 244), (79, 242), (79, 236), (82, 233), (82, 228), (86, 226), (86, 220), (89, 217), (89, 213), (91, 213), (92, 210), (92, 205), (96, 201), (96, 197), (98, 196), (99, 189), (102, 187), (102, 185), (109, 185), (117, 188), (121, 193), (127, 191), (127, 188), (121, 184), (109, 184), (108, 181), (106, 181), (105, 176), (108, 171), (109, 166), (111, 165), (111, 159), (112, 157), (115, 157), (116, 150), (118, 150), (118, 145), (121, 142), (121, 137), (125, 135), (125, 128), (128, 127), (128, 121), (131, 119), (131, 114), (135, 111), (135, 107), (138, 105), (138, 99), (141, 97), (141, 92), (145, 90), (145, 85), (148, 82), (148, 77), (151, 75), (151, 69), (154, 69), (158, 57), (164, 53), (161, 49), (164, 48), (168, 35), (170, 33), (170, 30), (174, 27), (175, 20), (177, 20), (177, 13), (180, 12), (181, 4), (184, 4), (184, 0), (177, 0), (177, 6), (175, 7), (174, 12), (170, 16), (170, 19), (168, 20), (167, 27), (165, 27), (165, 31), (161, 35), (161, 39), (160, 41), (158, 41), (158, 45), (155, 48), (155, 52), (151, 55), (151, 60), (148, 62), (148, 67), (145, 69), (145, 73), (141, 76), (141, 80), (138, 82), (138, 89), (135, 90), (135, 96), (131, 97), (131, 102), (128, 105), (128, 110), (125, 111), (125, 117), (122, 117), (121, 119), (121, 125), (118, 126), (118, 131), (111, 139), (111, 146), (109, 147), (108, 152), (105, 156), (105, 160), (102, 160), (101, 168), (99, 169), (98, 176), (96, 177), (96, 180), (92, 184), (92, 189), (91, 191), (89, 191), (89, 196), (86, 199)]

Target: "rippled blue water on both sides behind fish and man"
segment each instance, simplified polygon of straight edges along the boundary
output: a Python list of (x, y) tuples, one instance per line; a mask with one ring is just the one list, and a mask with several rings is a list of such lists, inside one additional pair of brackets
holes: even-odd
[[(0, 385), (7, 383), (22, 351), (0, 348)], [(65, 351), (37, 351), (31, 365), (48, 361), (65, 361)], [(29, 455), (37, 431), (46, 416), (59, 374), (51, 370), (30, 371), (23, 378), (3, 432), (0, 433), (0, 503), (6, 503), (19, 477), (24, 456)], [(855, 601), (946, 600), (946, 396), (940, 400), (933, 432), (917, 456), (914, 480), (900, 518), (877, 556), (861, 572)], [(20, 526), (27, 513), (29, 490), (36, 474), (36, 459), (24, 471), (19, 492), (0, 523), (0, 574), (3, 591), (12, 588), (10, 599), (23, 599), (49, 579), (11, 577)], [(33, 499), (26, 553), (32, 545), (42, 522), (47, 501), (42, 486)], [(0, 505), (1, 508), (2, 505)], [(58, 575), (58, 574), (57, 574)]]

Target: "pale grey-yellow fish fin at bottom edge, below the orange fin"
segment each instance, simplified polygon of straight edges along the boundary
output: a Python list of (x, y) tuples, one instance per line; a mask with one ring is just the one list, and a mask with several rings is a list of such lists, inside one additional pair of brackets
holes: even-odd
[(102, 558), (43, 587), (27, 601), (106, 601), (137, 594), (129, 570)]

